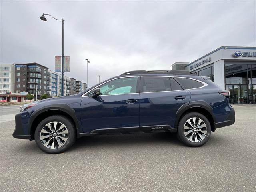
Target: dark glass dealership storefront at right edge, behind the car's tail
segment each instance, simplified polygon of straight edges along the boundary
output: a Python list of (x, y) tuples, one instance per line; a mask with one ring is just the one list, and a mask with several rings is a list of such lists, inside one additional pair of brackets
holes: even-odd
[(256, 64), (225, 64), (231, 104), (256, 104)]

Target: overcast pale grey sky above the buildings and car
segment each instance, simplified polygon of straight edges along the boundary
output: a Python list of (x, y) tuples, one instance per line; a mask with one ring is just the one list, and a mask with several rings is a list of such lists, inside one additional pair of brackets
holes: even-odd
[(220, 46), (256, 46), (256, 1), (0, 1), (0, 62), (37, 62), (89, 84), (129, 70), (170, 70)]

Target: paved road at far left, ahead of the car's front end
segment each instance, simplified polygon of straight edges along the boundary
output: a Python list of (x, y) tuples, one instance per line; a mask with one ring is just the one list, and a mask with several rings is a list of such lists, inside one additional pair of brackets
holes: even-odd
[(20, 112), (22, 105), (0, 106), (0, 123), (15, 120), (15, 114)]

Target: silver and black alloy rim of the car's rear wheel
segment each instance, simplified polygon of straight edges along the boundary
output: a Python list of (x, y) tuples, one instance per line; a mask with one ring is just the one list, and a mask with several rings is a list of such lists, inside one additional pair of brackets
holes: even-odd
[(186, 138), (191, 142), (200, 142), (207, 134), (206, 124), (198, 117), (187, 120), (183, 130)]

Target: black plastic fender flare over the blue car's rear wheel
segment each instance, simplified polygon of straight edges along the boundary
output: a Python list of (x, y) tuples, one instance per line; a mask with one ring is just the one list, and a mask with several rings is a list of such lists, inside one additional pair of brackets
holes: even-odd
[(210, 115), (212, 116), (212, 119), (214, 120), (213, 123), (216, 122), (216, 119), (215, 119), (215, 117), (213, 115), (213, 112), (212, 112), (212, 108), (211, 108), (211, 106), (208, 103), (206, 103), (205, 101), (192, 101), (192, 102), (183, 104), (178, 109), (178, 111), (176, 112), (176, 120), (175, 120), (174, 127), (178, 127), (178, 122), (179, 122), (180, 117), (182, 116), (182, 114), (186, 110), (194, 108), (194, 107), (200, 107), (200, 108), (203, 108), (204, 110), (207, 110), (210, 113)]

